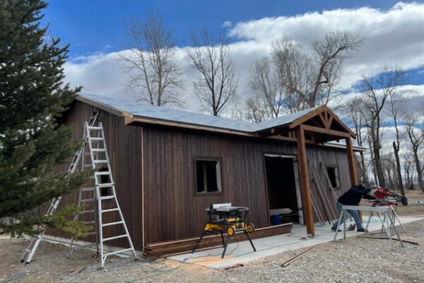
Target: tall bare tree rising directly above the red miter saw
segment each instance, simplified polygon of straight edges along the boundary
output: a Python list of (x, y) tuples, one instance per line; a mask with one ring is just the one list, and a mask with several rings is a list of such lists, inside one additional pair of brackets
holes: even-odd
[(363, 76), (361, 86), (363, 88), (363, 110), (365, 126), (369, 128), (370, 149), (378, 183), (385, 186), (384, 173), (381, 160), (381, 125), (384, 105), (389, 96), (405, 81), (405, 73), (401, 69), (386, 69), (377, 76)]

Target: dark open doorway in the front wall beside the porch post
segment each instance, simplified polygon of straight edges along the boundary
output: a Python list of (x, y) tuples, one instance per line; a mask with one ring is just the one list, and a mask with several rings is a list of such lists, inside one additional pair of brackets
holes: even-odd
[(298, 163), (295, 156), (265, 154), (271, 224), (303, 224)]

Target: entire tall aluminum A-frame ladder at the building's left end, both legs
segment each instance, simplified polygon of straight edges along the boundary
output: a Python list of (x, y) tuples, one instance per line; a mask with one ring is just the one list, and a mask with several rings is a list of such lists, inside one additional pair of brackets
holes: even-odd
[[(84, 222), (86, 224), (94, 224), (93, 231), (88, 233), (88, 235), (95, 235), (97, 251), (100, 253), (100, 262), (103, 267), (107, 257), (110, 255), (131, 251), (135, 260), (137, 260), (137, 254), (131, 241), (129, 231), (126, 227), (121, 207), (119, 206), (119, 202), (117, 200), (116, 189), (110, 166), (110, 158), (109, 154), (107, 153), (105, 132), (101, 122), (98, 123), (98, 126), (95, 126), (98, 115), (99, 112), (95, 113), (92, 117), (90, 117), (88, 122), (85, 122), (83, 134), (83, 140), (85, 144), (81, 149), (78, 149), (75, 156), (73, 156), (68, 173), (74, 173), (80, 161), (81, 170), (84, 170), (84, 168), (101, 169), (101, 171), (96, 171), (92, 177), (94, 180), (93, 186), (83, 187), (79, 191), (78, 207), (81, 207), (81, 205), (91, 205), (90, 208), (81, 211), (80, 214), (86, 216), (85, 218), (91, 214), (93, 218), (92, 221)], [(88, 149), (88, 152), (86, 152), (86, 148)], [(89, 158), (85, 158), (85, 156), (89, 156)], [(86, 160), (90, 161), (90, 163), (86, 164)], [(87, 194), (90, 196), (87, 196)], [(52, 215), (56, 211), (60, 201), (61, 197), (56, 197), (52, 200), (52, 204), (50, 204), (49, 209), (47, 209), (47, 216)], [(107, 208), (104, 207), (104, 204), (106, 204)], [(74, 221), (78, 221), (80, 214), (77, 214), (74, 217)], [(104, 214), (114, 214), (116, 221), (103, 223), (102, 219), (104, 218)], [(109, 219), (111, 219), (111, 217), (109, 217)], [(103, 231), (105, 227), (110, 227), (112, 230), (109, 232), (114, 233), (114, 231), (117, 230), (117, 226), (120, 226), (120, 230), (123, 231), (122, 233), (119, 233), (119, 235), (104, 237)], [(31, 262), (46, 229), (47, 226), (40, 227), (40, 233), (30, 242), (28, 248), (23, 254), (22, 260), (20, 260), (21, 262), (25, 261), (27, 264)], [(118, 238), (126, 238), (129, 248), (119, 248), (118, 250), (106, 253), (104, 243)], [(74, 239), (71, 240), (71, 244), (69, 246), (68, 258), (70, 257), (73, 248)]]

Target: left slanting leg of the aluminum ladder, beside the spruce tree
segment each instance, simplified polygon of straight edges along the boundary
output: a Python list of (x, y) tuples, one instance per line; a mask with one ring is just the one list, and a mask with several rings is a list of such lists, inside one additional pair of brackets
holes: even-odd
[[(90, 117), (90, 120), (88, 120), (88, 124), (94, 125), (99, 114), (100, 114), (100, 111), (95, 112)], [(87, 137), (85, 133), (84, 133), (83, 139), (84, 139), (84, 142), (87, 141)], [(68, 168), (68, 173), (74, 173), (76, 171), (76, 168), (78, 166), (78, 163), (81, 161), (81, 156), (83, 156), (83, 153), (84, 153), (84, 146), (82, 146), (81, 149), (78, 149), (75, 155), (73, 156), (71, 165)], [(53, 198), (52, 203), (50, 204), (49, 209), (47, 209), (45, 216), (50, 216), (56, 211), (57, 207), (59, 207), (61, 198), (62, 198), (61, 196)], [(46, 229), (47, 229), (46, 225), (40, 226), (40, 233), (38, 233), (37, 236), (31, 239), (30, 244), (28, 245), (25, 252), (23, 253), (22, 258), (20, 259), (20, 262), (25, 262), (26, 264), (28, 264), (31, 262), (31, 260), (33, 260), (33, 256), (35, 252), (37, 251), (38, 245), (40, 245), (42, 236), (44, 236)]]

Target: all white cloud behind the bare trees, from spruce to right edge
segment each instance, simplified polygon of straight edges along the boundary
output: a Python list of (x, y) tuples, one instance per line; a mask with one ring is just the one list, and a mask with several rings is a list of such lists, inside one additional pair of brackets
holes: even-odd
[[(388, 10), (377, 8), (335, 9), (305, 13), (298, 16), (261, 18), (259, 20), (223, 23), (231, 26), (229, 36), (238, 41), (231, 44), (231, 54), (239, 72), (239, 93), (249, 96), (249, 67), (254, 59), (269, 54), (271, 42), (282, 36), (309, 45), (331, 30), (346, 29), (364, 38), (364, 45), (348, 59), (343, 85), (352, 86), (367, 74), (378, 74), (386, 66), (397, 65), (406, 70), (424, 66), (424, 4), (399, 2)], [(105, 96), (130, 96), (124, 88), (117, 52), (79, 57), (65, 65), (66, 79), (84, 91)], [(177, 64), (184, 71), (184, 96), (191, 96), (190, 81), (195, 75), (187, 63), (183, 49), (177, 50)], [(422, 100), (424, 86), (404, 86), (408, 100)], [(193, 99), (188, 107), (196, 110)], [(343, 100), (341, 100), (343, 102)], [(413, 105), (418, 105), (414, 104)]]

